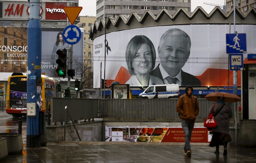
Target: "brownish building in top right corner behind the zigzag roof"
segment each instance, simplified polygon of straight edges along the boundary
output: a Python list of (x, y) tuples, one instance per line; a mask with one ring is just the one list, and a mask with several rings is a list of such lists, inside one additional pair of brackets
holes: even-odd
[[(256, 8), (256, 0), (235, 0), (236, 7), (240, 9), (241, 12), (247, 12), (251, 7)], [(234, 0), (227, 0), (227, 13), (233, 8)]]

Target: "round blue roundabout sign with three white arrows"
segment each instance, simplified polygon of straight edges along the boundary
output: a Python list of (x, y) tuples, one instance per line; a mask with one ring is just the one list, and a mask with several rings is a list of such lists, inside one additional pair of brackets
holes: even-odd
[(77, 26), (69, 25), (63, 30), (63, 39), (70, 45), (78, 43), (81, 36), (81, 30)]

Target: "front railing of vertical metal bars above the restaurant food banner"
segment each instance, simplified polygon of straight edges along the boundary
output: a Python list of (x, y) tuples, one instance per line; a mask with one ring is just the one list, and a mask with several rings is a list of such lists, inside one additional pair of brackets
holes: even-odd
[[(99, 99), (100, 118), (179, 118), (178, 98), (172, 99)], [(206, 118), (213, 101), (198, 98), (197, 118)], [(234, 103), (228, 103), (233, 108)], [(234, 114), (233, 114), (234, 117)]]

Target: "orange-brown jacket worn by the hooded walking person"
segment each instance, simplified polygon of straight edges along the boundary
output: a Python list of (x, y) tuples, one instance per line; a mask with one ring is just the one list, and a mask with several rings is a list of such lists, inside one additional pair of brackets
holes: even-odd
[(181, 119), (194, 122), (199, 113), (197, 98), (187, 94), (180, 96), (176, 105), (176, 111), (180, 114)]

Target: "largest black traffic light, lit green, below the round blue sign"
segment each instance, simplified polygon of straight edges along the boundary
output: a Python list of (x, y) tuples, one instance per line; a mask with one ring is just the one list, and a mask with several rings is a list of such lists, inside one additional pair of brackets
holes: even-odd
[(67, 68), (67, 49), (59, 49), (56, 53), (58, 54), (58, 59), (56, 60), (58, 68), (56, 69), (56, 73), (58, 76), (64, 78), (66, 76)]

